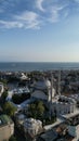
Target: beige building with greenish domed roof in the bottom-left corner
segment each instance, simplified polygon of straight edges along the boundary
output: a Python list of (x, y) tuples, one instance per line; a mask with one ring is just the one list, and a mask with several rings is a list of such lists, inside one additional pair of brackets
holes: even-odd
[(14, 123), (6, 115), (0, 116), (0, 141), (9, 141), (14, 133)]

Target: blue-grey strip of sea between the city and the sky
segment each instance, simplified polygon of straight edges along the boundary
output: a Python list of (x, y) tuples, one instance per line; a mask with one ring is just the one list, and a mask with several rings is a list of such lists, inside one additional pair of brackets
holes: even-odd
[(0, 72), (32, 72), (53, 69), (79, 69), (79, 63), (57, 62), (1, 62)]

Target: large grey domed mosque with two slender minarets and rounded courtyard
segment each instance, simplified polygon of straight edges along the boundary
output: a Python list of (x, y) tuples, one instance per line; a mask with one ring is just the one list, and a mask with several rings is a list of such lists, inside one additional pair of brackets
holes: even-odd
[(42, 79), (34, 84), (35, 91), (31, 98), (35, 100), (42, 100), (49, 103), (49, 108), (52, 113), (57, 115), (66, 115), (74, 113), (76, 110), (76, 101), (65, 95), (61, 95), (61, 76), (58, 76), (58, 93), (53, 87), (53, 75), (51, 80)]

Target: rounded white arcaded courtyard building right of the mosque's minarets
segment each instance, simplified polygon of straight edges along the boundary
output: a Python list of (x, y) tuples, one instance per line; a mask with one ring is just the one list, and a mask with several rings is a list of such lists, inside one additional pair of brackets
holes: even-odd
[(66, 115), (74, 113), (76, 110), (76, 101), (71, 98), (60, 95), (56, 101), (52, 102), (51, 111), (56, 115)]

